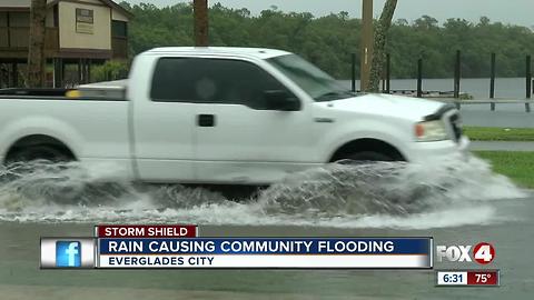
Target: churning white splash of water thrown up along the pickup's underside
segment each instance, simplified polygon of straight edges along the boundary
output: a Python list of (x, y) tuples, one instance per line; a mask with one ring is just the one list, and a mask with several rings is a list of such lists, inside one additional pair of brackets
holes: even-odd
[[(494, 204), (522, 190), (475, 157), (422, 164), (334, 163), (246, 199), (204, 188), (117, 179), (112, 164), (0, 169), (0, 220), (428, 229), (505, 221)], [(492, 201), (494, 200), (494, 201)]]

